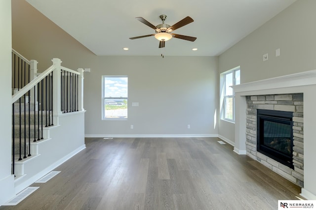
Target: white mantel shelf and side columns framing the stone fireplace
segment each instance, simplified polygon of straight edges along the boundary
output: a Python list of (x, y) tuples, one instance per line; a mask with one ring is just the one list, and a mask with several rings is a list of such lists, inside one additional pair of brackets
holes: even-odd
[[(265, 79), (234, 86), (235, 91), (235, 145), (237, 154), (247, 154), (246, 96), (289, 95), (303, 93), (304, 95), (304, 172), (300, 171), (304, 181), (301, 196), (308, 200), (316, 200), (316, 70), (290, 74), (271, 79)], [(249, 150), (249, 149), (248, 149)], [(248, 155), (249, 155), (248, 151)], [(249, 155), (250, 156), (250, 155)], [(274, 170), (277, 172), (277, 170)], [(285, 177), (284, 174), (279, 173)], [(289, 179), (288, 177), (285, 177)], [(297, 179), (297, 178), (296, 178)], [(290, 180), (290, 179), (289, 179)], [(291, 180), (294, 182), (294, 180)], [(297, 184), (303, 185), (298, 181)]]

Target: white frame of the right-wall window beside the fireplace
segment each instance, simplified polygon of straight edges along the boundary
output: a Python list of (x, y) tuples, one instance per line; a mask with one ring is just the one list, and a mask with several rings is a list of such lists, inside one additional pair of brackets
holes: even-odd
[[(223, 90), (223, 97), (222, 97), (222, 113), (221, 113), (221, 119), (222, 120), (226, 120), (226, 121), (230, 121), (230, 122), (235, 122), (235, 92), (233, 91), (233, 94), (232, 95), (226, 95), (226, 76), (230, 73), (233, 73), (233, 86), (234, 85), (238, 85), (236, 84), (236, 72), (239, 71), (239, 76), (240, 76), (240, 66), (237, 66), (231, 70), (228, 70), (224, 73), (221, 74), (221, 81), (222, 81), (222, 90)], [(240, 83), (240, 80), (239, 80), (239, 83)], [(232, 109), (232, 119), (230, 118), (226, 118), (226, 101), (227, 99), (232, 99), (232, 104), (233, 104), (233, 109)]]

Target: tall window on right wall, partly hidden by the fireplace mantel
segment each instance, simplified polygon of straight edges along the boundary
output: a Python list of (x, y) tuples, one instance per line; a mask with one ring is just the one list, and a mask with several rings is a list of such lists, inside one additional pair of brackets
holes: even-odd
[(235, 121), (235, 95), (234, 90), (230, 86), (240, 84), (240, 67), (236, 67), (232, 70), (221, 74), (223, 81), (223, 111), (222, 119)]

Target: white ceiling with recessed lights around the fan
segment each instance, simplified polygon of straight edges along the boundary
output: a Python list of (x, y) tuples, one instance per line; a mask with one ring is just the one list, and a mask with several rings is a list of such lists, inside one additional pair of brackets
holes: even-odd
[[(218, 56), (266, 23), (295, 0), (27, 0), (60, 28), (99, 56)], [(153, 25), (167, 15), (172, 26), (186, 16), (194, 19), (174, 33), (195, 36), (190, 42), (172, 38), (158, 48)], [(122, 48), (128, 47), (128, 51)], [(197, 51), (192, 51), (197, 48)]]

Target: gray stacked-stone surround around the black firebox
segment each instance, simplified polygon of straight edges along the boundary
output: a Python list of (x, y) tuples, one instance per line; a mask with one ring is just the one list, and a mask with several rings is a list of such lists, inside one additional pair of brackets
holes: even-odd
[[(303, 94), (246, 96), (246, 152), (277, 174), (304, 187)], [(257, 151), (257, 109), (293, 112), (294, 170)]]

